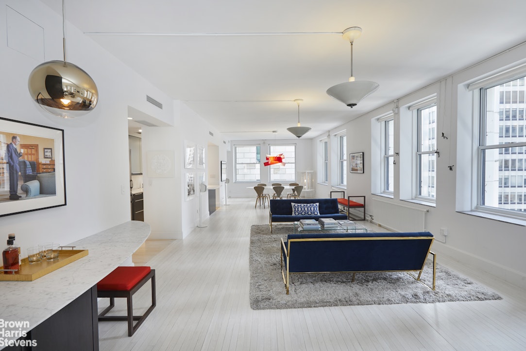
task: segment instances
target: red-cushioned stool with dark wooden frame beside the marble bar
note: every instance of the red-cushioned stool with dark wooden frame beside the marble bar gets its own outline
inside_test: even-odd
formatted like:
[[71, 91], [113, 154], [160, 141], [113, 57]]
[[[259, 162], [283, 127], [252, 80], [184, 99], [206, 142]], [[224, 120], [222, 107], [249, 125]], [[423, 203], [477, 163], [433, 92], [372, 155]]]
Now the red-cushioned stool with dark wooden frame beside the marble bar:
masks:
[[[142, 316], [134, 316], [131, 296], [148, 279], [151, 279], [151, 306]], [[109, 297], [109, 306], [98, 315], [98, 320], [127, 320], [128, 336], [132, 336], [155, 307], [155, 269], [150, 267], [117, 267], [97, 283], [97, 297]], [[115, 306], [116, 297], [126, 297], [128, 302], [127, 316], [105, 316]], [[133, 325], [134, 320], [138, 321], [135, 326]]]

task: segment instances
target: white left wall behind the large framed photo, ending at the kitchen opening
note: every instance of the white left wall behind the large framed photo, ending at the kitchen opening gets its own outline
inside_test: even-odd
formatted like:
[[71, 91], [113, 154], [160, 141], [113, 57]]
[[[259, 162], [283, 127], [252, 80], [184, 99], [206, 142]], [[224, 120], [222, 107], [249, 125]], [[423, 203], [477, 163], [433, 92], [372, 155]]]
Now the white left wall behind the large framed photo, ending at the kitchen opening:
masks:
[[[43, 37], [37, 41], [43, 43], [44, 52], [34, 58], [13, 49], [16, 42], [26, 40], [27, 33], [23, 29], [7, 33], [5, 22], [0, 22], [0, 37], [4, 38], [0, 44], [0, 116], [64, 129], [67, 206], [2, 217], [0, 239], [15, 233], [23, 248], [42, 241], [66, 244], [129, 220], [127, 106], [135, 97], [143, 97], [142, 101], [147, 93], [165, 95], [67, 25], [68, 61], [93, 77], [100, 99], [95, 110], [82, 119], [52, 119], [31, 101], [27, 78], [43, 62], [42, 57], [62, 58], [62, 17], [40, 2], [12, 0], [0, 2], [0, 18], [5, 19], [11, 8], [30, 24], [28, 28], [43, 28]], [[22, 28], [27, 26], [23, 24]], [[171, 114], [168, 109], [157, 115], [168, 121]]]

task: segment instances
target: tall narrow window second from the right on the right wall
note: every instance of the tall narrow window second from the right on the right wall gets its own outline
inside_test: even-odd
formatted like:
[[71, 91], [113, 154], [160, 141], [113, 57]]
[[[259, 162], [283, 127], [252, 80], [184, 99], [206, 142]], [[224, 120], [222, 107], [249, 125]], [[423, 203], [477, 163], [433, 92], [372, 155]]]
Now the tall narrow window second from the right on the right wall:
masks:
[[437, 159], [437, 105], [417, 110], [417, 197], [434, 200]]

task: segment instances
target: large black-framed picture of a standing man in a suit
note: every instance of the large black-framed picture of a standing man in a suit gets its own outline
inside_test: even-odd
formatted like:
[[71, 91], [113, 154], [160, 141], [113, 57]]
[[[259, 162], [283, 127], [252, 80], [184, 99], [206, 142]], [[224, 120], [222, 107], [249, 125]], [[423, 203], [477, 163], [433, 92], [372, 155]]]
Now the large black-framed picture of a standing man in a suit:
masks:
[[[7, 145], [14, 136], [20, 142], [15, 154], [13, 147], [8, 154]], [[0, 217], [66, 206], [63, 129], [0, 117], [0, 144]], [[25, 150], [22, 145], [31, 146]], [[52, 152], [52, 159], [41, 162], [48, 159], [46, 149], [54, 149], [55, 157]], [[18, 166], [16, 194], [12, 194], [10, 184], [13, 165]]]

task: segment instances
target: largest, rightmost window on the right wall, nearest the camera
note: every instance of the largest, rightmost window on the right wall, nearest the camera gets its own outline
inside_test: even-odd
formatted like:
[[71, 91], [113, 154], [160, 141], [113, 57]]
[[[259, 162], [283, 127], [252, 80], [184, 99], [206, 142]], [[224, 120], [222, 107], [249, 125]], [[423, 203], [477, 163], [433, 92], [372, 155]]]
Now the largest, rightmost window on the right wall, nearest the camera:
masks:
[[524, 81], [521, 77], [480, 89], [478, 147], [479, 208], [521, 217], [526, 217]]

